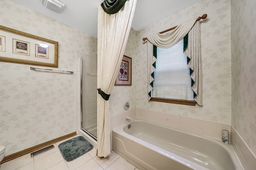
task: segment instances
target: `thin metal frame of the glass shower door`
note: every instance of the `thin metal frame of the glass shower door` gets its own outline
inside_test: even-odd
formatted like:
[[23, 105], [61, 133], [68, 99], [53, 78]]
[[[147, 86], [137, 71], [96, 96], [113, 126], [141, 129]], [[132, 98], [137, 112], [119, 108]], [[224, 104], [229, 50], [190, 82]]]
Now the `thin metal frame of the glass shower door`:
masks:
[[81, 117], [81, 129], [90, 137], [92, 137], [94, 140], [97, 141], [97, 137], [95, 137], [94, 135], [92, 135], [90, 132], [88, 132], [86, 129], [83, 128], [83, 58], [80, 58], [80, 117]]

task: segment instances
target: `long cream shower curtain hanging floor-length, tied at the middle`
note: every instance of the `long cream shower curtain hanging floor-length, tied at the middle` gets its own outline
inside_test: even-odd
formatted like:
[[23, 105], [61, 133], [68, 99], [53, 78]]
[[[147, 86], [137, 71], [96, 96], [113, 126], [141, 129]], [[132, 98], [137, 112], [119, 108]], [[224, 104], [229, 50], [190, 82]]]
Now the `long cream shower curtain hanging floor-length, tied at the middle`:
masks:
[[[116, 14], [98, 7], [97, 88], [110, 94], [126, 48], [137, 0], [127, 0]], [[109, 103], [97, 95], [98, 156], [110, 155]]]

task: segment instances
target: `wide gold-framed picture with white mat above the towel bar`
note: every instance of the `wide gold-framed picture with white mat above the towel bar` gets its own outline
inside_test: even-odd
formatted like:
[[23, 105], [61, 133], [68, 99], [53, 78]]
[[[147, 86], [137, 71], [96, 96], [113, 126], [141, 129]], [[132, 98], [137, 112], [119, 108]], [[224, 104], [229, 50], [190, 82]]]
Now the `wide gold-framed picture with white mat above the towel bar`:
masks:
[[58, 67], [58, 42], [0, 25], [0, 61]]

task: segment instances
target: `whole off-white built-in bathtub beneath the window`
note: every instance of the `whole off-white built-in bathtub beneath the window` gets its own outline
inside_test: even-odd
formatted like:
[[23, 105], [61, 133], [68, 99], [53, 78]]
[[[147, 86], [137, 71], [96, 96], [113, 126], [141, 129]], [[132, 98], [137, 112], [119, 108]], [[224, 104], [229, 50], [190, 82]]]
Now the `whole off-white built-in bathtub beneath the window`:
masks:
[[140, 170], [243, 170], [231, 145], [141, 119], [113, 130], [113, 150]]

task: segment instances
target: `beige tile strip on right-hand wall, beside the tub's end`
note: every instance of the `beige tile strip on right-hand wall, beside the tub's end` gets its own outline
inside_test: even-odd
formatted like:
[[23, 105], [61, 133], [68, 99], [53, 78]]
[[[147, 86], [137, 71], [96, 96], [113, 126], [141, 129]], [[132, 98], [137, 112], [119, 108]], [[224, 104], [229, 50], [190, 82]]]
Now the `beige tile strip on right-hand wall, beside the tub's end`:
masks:
[[244, 170], [255, 170], [256, 156], [232, 126], [230, 142], [242, 166], [244, 167]]

